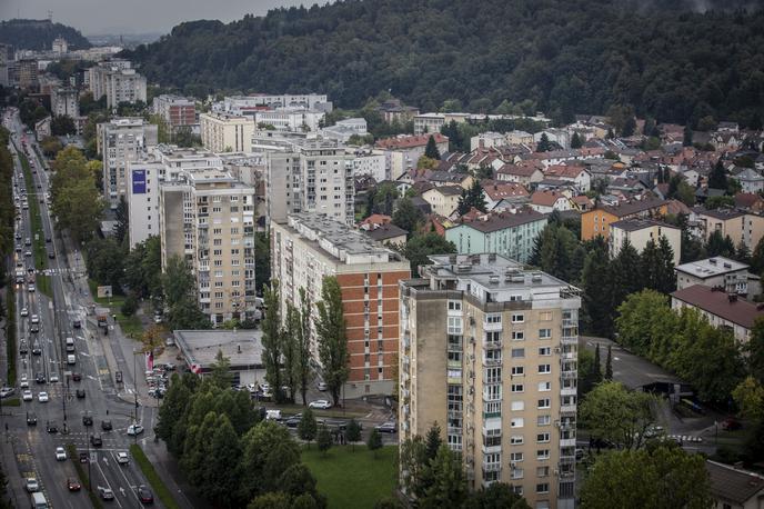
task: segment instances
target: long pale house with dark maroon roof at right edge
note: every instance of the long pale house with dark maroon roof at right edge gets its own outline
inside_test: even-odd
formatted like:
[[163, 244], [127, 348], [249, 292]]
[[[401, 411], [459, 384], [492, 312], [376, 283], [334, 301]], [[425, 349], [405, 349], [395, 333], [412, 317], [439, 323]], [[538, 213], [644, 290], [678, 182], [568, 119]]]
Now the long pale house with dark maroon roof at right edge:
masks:
[[721, 288], [703, 285], [676, 290], [671, 295], [671, 308], [697, 309], [714, 327], [728, 327], [735, 339], [745, 343], [751, 338], [751, 329], [758, 317], [764, 317], [764, 305], [755, 305], [736, 293], [727, 293]]

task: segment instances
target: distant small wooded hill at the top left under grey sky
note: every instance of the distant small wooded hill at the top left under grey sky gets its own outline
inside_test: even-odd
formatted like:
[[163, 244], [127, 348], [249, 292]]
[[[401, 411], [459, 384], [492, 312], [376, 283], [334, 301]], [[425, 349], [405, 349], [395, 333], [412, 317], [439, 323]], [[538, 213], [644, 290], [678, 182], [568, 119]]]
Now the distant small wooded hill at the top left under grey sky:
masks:
[[62, 37], [69, 49], [81, 50], [91, 47], [79, 30], [48, 20], [12, 19], [0, 21], [0, 42], [16, 49], [50, 50], [53, 39]]

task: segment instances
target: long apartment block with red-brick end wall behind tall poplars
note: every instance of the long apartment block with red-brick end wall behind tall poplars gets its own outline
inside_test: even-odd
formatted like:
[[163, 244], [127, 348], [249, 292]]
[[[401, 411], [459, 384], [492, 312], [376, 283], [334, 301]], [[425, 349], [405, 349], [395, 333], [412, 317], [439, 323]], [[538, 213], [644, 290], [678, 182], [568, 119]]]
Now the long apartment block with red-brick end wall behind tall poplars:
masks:
[[[300, 306], [300, 288], [311, 301], [321, 300], [323, 278], [332, 276], [342, 289], [350, 352], [348, 398], [390, 395], [396, 381], [398, 286], [411, 276], [409, 261], [343, 222], [313, 213], [290, 214], [271, 222], [272, 278], [281, 286], [281, 309]], [[318, 340], [311, 351], [320, 365]]]

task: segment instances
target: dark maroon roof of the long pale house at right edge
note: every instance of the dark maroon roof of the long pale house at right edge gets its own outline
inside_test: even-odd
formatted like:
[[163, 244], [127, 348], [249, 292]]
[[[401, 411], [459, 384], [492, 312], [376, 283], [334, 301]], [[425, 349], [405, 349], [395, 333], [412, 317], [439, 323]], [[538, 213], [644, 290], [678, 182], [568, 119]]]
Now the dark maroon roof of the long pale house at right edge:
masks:
[[753, 328], [756, 318], [764, 317], [764, 309], [758, 309], [756, 305], [704, 285], [693, 285], [671, 296], [746, 329]]

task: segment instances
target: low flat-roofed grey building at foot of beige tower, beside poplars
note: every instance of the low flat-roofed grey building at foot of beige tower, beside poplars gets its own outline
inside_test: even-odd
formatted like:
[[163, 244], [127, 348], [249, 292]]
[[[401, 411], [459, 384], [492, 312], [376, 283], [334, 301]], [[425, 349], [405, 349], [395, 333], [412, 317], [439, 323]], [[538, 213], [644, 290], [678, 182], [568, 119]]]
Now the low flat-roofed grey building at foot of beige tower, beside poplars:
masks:
[[220, 351], [230, 362], [231, 385], [247, 386], [265, 380], [262, 330], [175, 330], [172, 335], [191, 372], [210, 373]]

